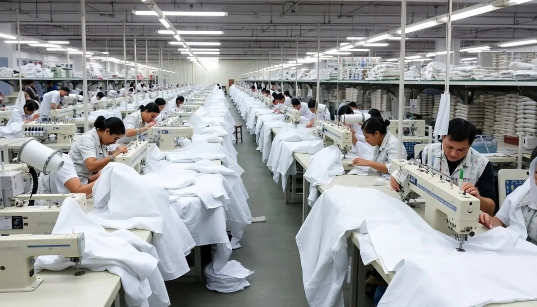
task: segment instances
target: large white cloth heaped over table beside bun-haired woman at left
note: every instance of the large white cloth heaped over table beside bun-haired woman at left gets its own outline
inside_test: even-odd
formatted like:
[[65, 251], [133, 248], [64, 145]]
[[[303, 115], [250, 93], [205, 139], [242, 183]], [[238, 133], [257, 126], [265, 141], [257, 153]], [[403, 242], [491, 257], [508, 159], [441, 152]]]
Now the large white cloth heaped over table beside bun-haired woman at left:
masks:
[[108, 163], [93, 186], [93, 197], [96, 209], [90, 215], [99, 224], [153, 232], [164, 280], [176, 279], [190, 270], [185, 255], [195, 245], [194, 240], [171, 210], [168, 192], [159, 182], [140, 176], [127, 165]]

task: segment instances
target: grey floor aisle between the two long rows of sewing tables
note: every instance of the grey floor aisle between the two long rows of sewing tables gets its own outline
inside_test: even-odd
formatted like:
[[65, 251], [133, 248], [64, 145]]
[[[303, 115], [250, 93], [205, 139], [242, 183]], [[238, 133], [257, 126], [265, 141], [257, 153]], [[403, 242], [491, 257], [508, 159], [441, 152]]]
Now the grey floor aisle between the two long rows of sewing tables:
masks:
[[[229, 98], [228, 98], [229, 99]], [[230, 111], [237, 123], [243, 123], [229, 99]], [[231, 258], [255, 271], [243, 291], [221, 294], [209, 291], [205, 284], [167, 282], [171, 306], [197, 307], [306, 307], [302, 269], [295, 235], [301, 225], [301, 204], [285, 204], [281, 185], [261, 162], [257, 144], [243, 127], [244, 142], [236, 145], [238, 163], [250, 199], [252, 216], [266, 216], [267, 222], [246, 227], [242, 248]]]

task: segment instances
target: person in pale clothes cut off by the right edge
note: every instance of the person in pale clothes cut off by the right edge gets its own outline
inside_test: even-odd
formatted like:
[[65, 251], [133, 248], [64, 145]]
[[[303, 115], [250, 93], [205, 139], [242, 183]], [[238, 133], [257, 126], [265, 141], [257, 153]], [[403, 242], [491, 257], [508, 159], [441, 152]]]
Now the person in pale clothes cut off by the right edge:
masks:
[[[529, 242], [537, 244], [537, 172], [533, 159], [529, 167], [529, 178], [524, 185], [507, 195], [496, 216], [488, 213], [479, 215], [479, 222], [487, 228], [507, 227], [520, 232]], [[528, 182], [529, 181], [529, 182]]]

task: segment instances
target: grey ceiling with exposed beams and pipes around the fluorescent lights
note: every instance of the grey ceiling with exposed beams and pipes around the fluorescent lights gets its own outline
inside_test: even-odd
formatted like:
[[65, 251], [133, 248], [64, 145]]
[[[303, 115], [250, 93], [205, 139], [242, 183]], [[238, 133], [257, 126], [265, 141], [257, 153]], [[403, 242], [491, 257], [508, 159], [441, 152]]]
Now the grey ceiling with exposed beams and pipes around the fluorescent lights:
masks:
[[[296, 41], [299, 56], [317, 50], [317, 25], [321, 27], [321, 49], [337, 46], [347, 36], [370, 36], [393, 30], [401, 25], [401, 3], [398, 1], [277, 1], [252, 0], [155, 0], [162, 11], [204, 10], [227, 11], [225, 17], [167, 17], [177, 30], [222, 30], [223, 35], [182, 35], [187, 41], [219, 41], [220, 59], [294, 59]], [[453, 10], [481, 1], [454, 0]], [[80, 2], [75, 0], [3, 0], [0, 2], [0, 23], [16, 23], [20, 10], [21, 35], [42, 40], [67, 39], [80, 48]], [[149, 61], [158, 59], [163, 47], [164, 59], [179, 57], [179, 46], [171, 46], [171, 35], [156, 33], [164, 27], [155, 16], [135, 16], [132, 10], [148, 10], [139, 0], [86, 1], [87, 49], [111, 55], [123, 54], [123, 25], [126, 21], [127, 54], [133, 60], [133, 36], [138, 39], [137, 59], [145, 60], [146, 39]], [[446, 2], [411, 1], [407, 6], [407, 23], [446, 13]], [[445, 25], [410, 33], [407, 53], [433, 51], [438, 39], [445, 39]], [[462, 46], [482, 45], [537, 36], [537, 5], [526, 3], [467, 18], [453, 23], [453, 38]], [[393, 57], [400, 48], [398, 41], [390, 46], [372, 49], [372, 54]], [[202, 48], [195, 46], [195, 48]], [[215, 48], [215, 47], [211, 47]], [[281, 49], [283, 48], [283, 49]], [[25, 46], [23, 50], [42, 52]], [[364, 55], [357, 53], [357, 55]], [[186, 55], [182, 55], [185, 57]]]

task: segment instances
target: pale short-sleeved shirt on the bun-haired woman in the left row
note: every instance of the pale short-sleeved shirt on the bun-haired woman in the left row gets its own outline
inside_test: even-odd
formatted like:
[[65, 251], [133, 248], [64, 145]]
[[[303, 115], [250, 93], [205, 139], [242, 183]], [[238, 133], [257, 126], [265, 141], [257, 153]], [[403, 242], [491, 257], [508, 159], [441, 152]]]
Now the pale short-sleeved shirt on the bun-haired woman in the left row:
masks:
[[101, 145], [96, 128], [84, 133], [72, 144], [69, 156], [75, 164], [76, 173], [83, 184], [88, 183], [88, 178], [92, 174], [84, 161], [88, 158], [96, 158], [97, 160], [106, 158], [108, 157], [108, 151], [110, 151], [110, 148], [107, 145]]

